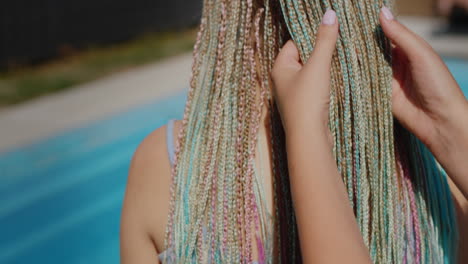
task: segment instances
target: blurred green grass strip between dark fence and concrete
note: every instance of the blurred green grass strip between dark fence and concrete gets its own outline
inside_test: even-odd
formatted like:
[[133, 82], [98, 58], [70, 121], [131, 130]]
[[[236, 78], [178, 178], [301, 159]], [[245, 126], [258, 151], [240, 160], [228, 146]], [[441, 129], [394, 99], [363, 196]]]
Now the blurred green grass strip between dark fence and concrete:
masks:
[[193, 47], [195, 35], [194, 29], [153, 33], [122, 44], [89, 48], [42, 65], [0, 73], [0, 108], [187, 52]]

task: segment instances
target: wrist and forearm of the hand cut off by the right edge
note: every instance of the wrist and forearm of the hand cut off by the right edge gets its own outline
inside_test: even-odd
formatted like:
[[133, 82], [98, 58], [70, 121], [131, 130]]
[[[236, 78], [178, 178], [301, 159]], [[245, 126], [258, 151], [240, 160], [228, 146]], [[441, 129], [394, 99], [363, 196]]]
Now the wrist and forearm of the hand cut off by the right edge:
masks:
[[431, 149], [449, 177], [468, 199], [468, 102], [454, 107], [439, 128], [437, 148]]

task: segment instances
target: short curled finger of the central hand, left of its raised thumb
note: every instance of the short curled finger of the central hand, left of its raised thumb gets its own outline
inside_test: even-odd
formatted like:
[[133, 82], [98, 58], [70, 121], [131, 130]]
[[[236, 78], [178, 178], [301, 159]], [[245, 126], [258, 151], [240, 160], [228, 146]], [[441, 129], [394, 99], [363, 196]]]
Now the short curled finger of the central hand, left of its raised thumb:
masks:
[[288, 40], [278, 53], [271, 71], [271, 77], [277, 86], [291, 81], [301, 70], [299, 51], [292, 40]]

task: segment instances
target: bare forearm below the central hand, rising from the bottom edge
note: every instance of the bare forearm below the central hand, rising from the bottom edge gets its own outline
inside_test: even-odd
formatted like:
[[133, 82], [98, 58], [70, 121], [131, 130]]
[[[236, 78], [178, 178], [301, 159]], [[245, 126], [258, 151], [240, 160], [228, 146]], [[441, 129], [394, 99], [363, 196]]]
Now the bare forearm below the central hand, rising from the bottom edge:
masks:
[[370, 263], [331, 144], [302, 131], [286, 142], [304, 263]]

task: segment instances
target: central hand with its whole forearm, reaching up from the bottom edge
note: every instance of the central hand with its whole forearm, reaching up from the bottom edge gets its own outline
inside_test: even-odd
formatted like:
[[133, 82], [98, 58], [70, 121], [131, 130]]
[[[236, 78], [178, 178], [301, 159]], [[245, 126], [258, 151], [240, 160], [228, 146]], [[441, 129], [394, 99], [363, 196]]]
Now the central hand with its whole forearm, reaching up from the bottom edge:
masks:
[[330, 10], [308, 61], [302, 64], [296, 46], [288, 41], [272, 71], [273, 92], [286, 132], [303, 263], [371, 263], [336, 166], [328, 129], [330, 71], [337, 38], [338, 21]]

